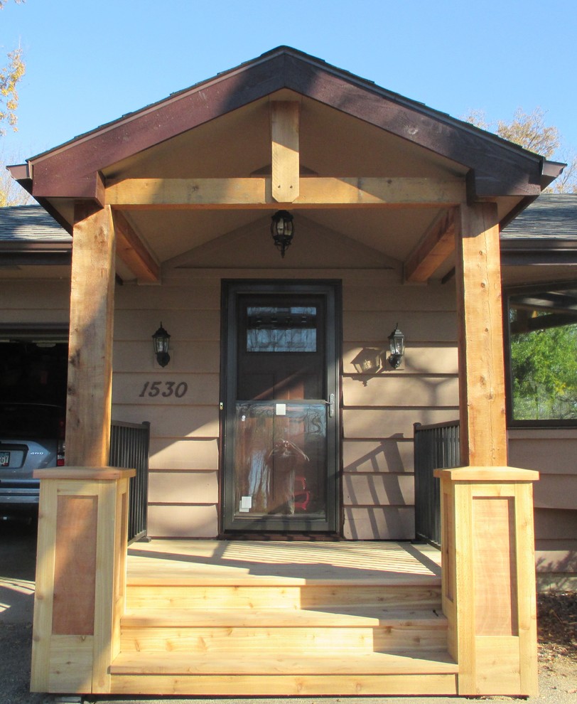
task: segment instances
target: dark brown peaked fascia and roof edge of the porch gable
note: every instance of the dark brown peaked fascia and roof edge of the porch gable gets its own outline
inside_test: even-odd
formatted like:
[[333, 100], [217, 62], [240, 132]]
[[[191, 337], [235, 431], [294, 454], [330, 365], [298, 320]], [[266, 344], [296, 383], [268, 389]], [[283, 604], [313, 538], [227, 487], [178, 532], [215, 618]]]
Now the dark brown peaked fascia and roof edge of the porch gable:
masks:
[[92, 198], [102, 204], [99, 172], [110, 164], [284, 89], [465, 166], [470, 198], [534, 197], [559, 174], [555, 162], [286, 46], [75, 137], [29, 159], [26, 169], [11, 171], [36, 198]]

